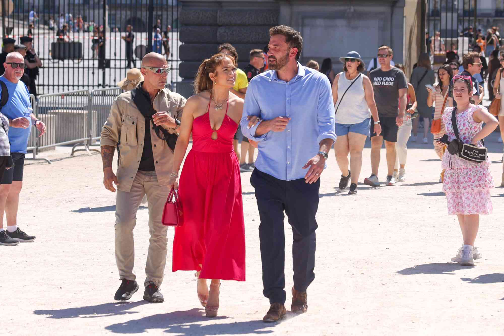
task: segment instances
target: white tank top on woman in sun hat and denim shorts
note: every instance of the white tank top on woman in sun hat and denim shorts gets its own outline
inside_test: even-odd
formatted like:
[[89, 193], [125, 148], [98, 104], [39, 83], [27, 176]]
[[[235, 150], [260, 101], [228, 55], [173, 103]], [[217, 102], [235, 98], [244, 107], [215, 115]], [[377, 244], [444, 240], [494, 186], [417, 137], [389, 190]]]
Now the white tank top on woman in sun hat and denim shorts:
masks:
[[[359, 76], [359, 75], [357, 75]], [[347, 80], [345, 73], [340, 73], [340, 77], [338, 79], [338, 101], [334, 108], [338, 107], [340, 104], [338, 111], [336, 112], [337, 123], [343, 124], [354, 124], [364, 121], [367, 118], [371, 117], [371, 112], [369, 112], [369, 107], [367, 106], [364, 87], [362, 86], [362, 79], [364, 75], [360, 75], [358, 79]], [[352, 81], [352, 87], [348, 89], [343, 100], [341, 99], [346, 89], [350, 86]]]

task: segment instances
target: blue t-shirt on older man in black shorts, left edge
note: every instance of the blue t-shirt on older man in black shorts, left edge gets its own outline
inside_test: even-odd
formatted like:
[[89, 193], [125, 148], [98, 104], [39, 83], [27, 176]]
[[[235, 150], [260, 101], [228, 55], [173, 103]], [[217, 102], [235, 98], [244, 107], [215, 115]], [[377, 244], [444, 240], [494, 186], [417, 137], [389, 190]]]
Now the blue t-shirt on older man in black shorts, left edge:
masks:
[[[30, 92], [26, 87], [26, 84], [19, 81], [17, 84], [12, 83], [4, 76], [0, 77], [0, 81], [3, 81], [7, 85], [7, 90], [9, 91], [9, 101], [2, 107], [2, 113], [5, 114], [9, 119], [16, 119], [22, 117], [24, 112], [27, 112], [28, 107], [31, 107]], [[0, 87], [0, 97], [2, 94], [2, 87]], [[11, 143], [11, 153], [25, 153], [28, 147], [28, 138], [30, 137], [31, 131], [31, 118], [30, 127], [28, 128], [9, 128], [9, 141]]]

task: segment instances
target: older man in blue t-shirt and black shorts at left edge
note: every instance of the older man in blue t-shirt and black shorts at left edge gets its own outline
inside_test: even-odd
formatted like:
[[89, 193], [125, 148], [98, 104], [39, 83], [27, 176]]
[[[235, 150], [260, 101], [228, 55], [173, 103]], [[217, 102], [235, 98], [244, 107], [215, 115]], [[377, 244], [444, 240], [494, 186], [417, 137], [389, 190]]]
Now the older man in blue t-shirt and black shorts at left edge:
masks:
[[[6, 170], [0, 182], [0, 244], [9, 237], [19, 242], [35, 239], [35, 236], [29, 236], [17, 227], [19, 193], [23, 186], [23, 166], [32, 124], [40, 131], [40, 136], [45, 132], [44, 123], [31, 113], [30, 93], [20, 81], [25, 66], [23, 56], [19, 52], [11, 52], [4, 63], [5, 73], [0, 77], [9, 91], [9, 101], [2, 108], [2, 113], [9, 119], [9, 142], [14, 161], [14, 168]], [[7, 216], [7, 232], [3, 227], [4, 212]]]

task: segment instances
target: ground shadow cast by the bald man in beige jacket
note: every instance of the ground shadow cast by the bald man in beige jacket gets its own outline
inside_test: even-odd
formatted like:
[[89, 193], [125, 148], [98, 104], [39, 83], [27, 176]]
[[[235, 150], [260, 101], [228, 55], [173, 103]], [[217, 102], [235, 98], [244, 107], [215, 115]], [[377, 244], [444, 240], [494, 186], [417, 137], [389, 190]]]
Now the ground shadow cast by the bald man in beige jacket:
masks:
[[138, 311], [130, 309], [148, 304], [149, 302], [142, 300], [137, 302], [110, 302], [96, 306], [73, 307], [65, 309], [52, 310], [34, 310], [35, 315], [49, 315], [47, 318], [76, 318], [76, 317], [104, 317], [124, 314], [134, 314]]

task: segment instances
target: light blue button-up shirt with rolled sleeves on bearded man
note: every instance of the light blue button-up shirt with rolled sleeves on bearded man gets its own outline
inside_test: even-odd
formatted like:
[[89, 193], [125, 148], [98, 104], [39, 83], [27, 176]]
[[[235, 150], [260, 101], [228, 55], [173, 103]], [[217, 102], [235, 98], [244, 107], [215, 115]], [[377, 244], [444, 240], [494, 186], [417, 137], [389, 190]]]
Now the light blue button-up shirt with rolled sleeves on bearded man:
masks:
[[[254, 77], [248, 83], [240, 121], [243, 135], [259, 142], [256, 168], [285, 181], [304, 178], [307, 169], [302, 167], [317, 155], [322, 140], [336, 141], [329, 79], [299, 62], [297, 65], [297, 75], [290, 82], [279, 79], [276, 71]], [[281, 132], [269, 131], [256, 137], [260, 123], [247, 129], [249, 115], [264, 120], [278, 116], [291, 120]]]

